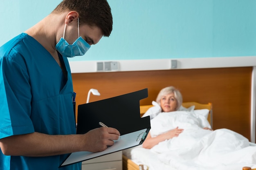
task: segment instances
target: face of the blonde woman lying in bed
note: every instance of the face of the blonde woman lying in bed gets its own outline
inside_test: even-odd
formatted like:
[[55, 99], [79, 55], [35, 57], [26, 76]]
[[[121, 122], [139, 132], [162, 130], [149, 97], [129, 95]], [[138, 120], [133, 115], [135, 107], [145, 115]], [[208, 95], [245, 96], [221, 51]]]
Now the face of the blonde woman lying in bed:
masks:
[[163, 112], [175, 111], [177, 107], [177, 100], [174, 97], [174, 93], [163, 95], [160, 100], [160, 106]]

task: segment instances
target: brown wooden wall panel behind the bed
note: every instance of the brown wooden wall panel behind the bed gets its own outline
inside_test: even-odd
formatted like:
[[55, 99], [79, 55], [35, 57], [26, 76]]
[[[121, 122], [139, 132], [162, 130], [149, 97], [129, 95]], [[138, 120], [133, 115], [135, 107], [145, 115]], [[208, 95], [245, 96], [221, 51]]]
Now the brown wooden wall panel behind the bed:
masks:
[[213, 105], [213, 129], [228, 128], [250, 139], [250, 97], [252, 67], [171, 69], [72, 74], [76, 105], [148, 88], [148, 97], [140, 105], [150, 105], [166, 86], [180, 90], [183, 102]]

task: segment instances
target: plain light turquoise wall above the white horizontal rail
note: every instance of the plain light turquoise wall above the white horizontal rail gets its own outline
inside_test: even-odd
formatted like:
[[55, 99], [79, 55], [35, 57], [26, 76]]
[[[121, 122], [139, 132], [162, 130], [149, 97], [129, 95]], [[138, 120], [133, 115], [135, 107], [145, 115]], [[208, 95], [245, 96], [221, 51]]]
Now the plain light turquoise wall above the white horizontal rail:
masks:
[[[0, 2], [0, 45], [61, 0]], [[256, 55], [256, 0], [108, 0], [113, 31], [74, 60]]]

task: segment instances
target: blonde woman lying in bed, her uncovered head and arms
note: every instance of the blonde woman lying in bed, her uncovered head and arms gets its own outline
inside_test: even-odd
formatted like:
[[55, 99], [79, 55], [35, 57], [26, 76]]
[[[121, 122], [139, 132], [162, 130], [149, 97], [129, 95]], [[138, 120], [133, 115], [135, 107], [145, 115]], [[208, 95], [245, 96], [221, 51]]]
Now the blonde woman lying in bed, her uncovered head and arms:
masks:
[[[150, 115], [150, 119], [153, 119], [160, 112], [173, 112], [179, 110], [182, 105], [182, 94], [179, 90], [177, 90], [173, 86], [168, 86], [163, 88], [159, 94], [157, 95], [156, 103], [160, 107], [154, 108], [154, 110], [148, 110], [143, 117]], [[154, 105], [157, 105], [154, 104]], [[205, 127], [204, 129], [209, 129]], [[177, 137], [180, 133], [183, 132], [184, 129], [176, 127], [175, 129], [169, 130], [168, 132], [157, 135], [156, 137], [151, 137], [150, 132], [148, 133], [147, 138], [143, 143], [144, 148], [152, 148], [157, 145], [159, 142], [164, 141], [166, 139], [171, 139], [173, 137]]]

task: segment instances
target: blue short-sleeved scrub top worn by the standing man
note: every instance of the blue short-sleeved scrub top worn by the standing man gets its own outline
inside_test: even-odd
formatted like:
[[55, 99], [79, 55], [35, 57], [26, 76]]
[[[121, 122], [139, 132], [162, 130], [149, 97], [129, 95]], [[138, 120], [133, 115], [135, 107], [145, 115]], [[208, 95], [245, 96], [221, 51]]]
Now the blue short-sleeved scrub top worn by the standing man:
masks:
[[[52, 55], [26, 33], [0, 47], [0, 139], [32, 132], [76, 133], [71, 71], [66, 57], [63, 62], [67, 77]], [[5, 156], [0, 150], [0, 170], [81, 169], [81, 163], [58, 168], [66, 157]]]

